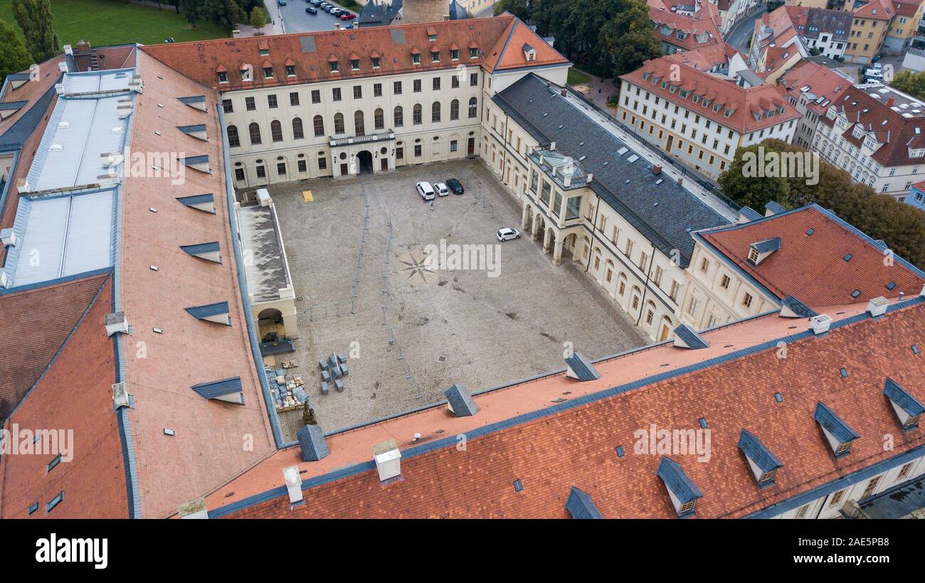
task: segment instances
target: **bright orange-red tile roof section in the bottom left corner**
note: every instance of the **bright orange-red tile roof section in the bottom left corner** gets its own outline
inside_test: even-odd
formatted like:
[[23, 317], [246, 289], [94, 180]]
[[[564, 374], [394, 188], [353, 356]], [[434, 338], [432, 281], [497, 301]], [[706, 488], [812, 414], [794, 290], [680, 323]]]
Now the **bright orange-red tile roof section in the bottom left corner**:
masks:
[[61, 347], [55, 363], [4, 426], [7, 431], [72, 430], [68, 441], [73, 458], [65, 457], [46, 471], [55, 452], [4, 454], [0, 459], [0, 518], [29, 516], [31, 504], [38, 504], [38, 510], [30, 518], [46, 517], [45, 504], [58, 492], [65, 492], [64, 501], [49, 518], [129, 516], [122, 445], [113, 412], [113, 339], [106, 337], [103, 324], [111, 311], [113, 281], [105, 277], [102, 287], [99, 278], [93, 282], [93, 292], [99, 290], [99, 296]]

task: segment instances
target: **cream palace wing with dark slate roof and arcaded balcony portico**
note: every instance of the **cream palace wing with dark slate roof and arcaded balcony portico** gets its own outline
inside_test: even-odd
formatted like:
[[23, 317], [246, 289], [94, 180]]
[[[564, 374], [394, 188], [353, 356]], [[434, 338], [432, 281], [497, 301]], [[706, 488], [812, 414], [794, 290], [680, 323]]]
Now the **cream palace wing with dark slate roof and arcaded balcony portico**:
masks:
[[690, 232], [733, 223], [737, 213], [679, 184], [680, 173], [631, 134], [592, 119], [562, 91], [536, 75], [499, 91], [485, 110], [482, 155], [553, 261], [567, 253], [643, 332], [665, 340], [677, 324]]

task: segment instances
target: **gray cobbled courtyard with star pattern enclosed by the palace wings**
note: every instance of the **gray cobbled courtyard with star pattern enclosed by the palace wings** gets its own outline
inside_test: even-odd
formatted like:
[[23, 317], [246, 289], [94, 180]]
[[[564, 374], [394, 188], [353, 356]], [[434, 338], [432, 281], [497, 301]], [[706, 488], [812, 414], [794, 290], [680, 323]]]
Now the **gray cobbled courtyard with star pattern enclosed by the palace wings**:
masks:
[[[428, 204], [418, 181], [462, 181]], [[268, 188], [296, 294], [294, 359], [325, 431], [422, 407], [452, 383], [472, 392], [561, 369], [570, 346], [588, 358], [647, 341], [583, 265], [555, 267], [520, 228], [518, 204], [478, 161], [402, 168]], [[310, 189], [313, 200], [302, 191]], [[487, 263], [430, 264], [428, 245], [484, 246]], [[497, 246], [497, 247], [496, 247]], [[490, 254], [489, 254], [490, 253]], [[347, 356], [345, 389], [320, 394], [318, 360]], [[288, 439], [301, 411], [282, 416]]]

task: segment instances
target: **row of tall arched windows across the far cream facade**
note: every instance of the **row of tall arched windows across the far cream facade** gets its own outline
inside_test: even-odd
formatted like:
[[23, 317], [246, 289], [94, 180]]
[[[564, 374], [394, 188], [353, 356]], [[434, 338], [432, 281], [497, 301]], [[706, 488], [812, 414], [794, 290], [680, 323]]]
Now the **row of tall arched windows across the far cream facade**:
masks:
[[[439, 123], [442, 115], [441, 110], [442, 105], [440, 102], [434, 102], [431, 104], [431, 123]], [[468, 115], [470, 118], [475, 118], [478, 116], [478, 100], [475, 97], [469, 100]], [[450, 102], [450, 121], [455, 121], [459, 119], [459, 117], [460, 102], [458, 99], [454, 99]], [[415, 126], [419, 126], [424, 123], [424, 110], [420, 103], [416, 103], [412, 108], [412, 123]], [[392, 111], [392, 127], [402, 128], [403, 126], [404, 108], [402, 108], [401, 105], [396, 105], [395, 109]], [[381, 107], [377, 107], [376, 111], [373, 113], [373, 127], [376, 130], [386, 128], [386, 114]], [[316, 138], [326, 135], [324, 117], [321, 115], [315, 115], [312, 118], [312, 129]], [[263, 143], [263, 137], [261, 136], [260, 132], [260, 125], [257, 122], [252, 122], [250, 125], [248, 125], [247, 131], [252, 146]], [[334, 115], [334, 135], [337, 136], [344, 133], [346, 133], [344, 115], [337, 113]], [[361, 110], [357, 110], [353, 113], [353, 134], [355, 136], [364, 136], [366, 134], [364, 113]], [[294, 117], [292, 119], [292, 139], [302, 140], [304, 137], [305, 132], [304, 128], [302, 128], [302, 118]], [[283, 127], [277, 119], [274, 119], [270, 122], [270, 140], [283, 140]], [[240, 133], [237, 126], [228, 126], [228, 145], [231, 147], [240, 146]]]

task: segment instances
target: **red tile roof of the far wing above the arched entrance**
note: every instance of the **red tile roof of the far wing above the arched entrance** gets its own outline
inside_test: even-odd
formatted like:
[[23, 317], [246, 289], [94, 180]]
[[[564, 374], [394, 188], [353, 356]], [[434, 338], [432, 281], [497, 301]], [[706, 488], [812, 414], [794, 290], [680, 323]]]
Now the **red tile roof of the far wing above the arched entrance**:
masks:
[[[435, 44], [428, 40], [427, 29], [430, 28], [437, 32], [436, 46], [440, 48], [440, 61], [433, 63], [430, 55], [422, 55], [421, 63], [414, 65], [411, 56], [413, 49], [419, 50], [420, 47]], [[260, 54], [260, 43], [265, 43], [269, 55]], [[462, 50], [459, 60], [451, 60], [450, 46], [454, 43], [457, 46], [478, 48], [478, 57], [470, 59], [469, 52]], [[535, 61], [526, 61], [522, 50], [524, 43], [529, 43], [536, 49]], [[549, 46], [549, 43], [544, 42], [523, 22], [508, 13], [495, 18], [448, 20], [428, 24], [155, 44], [143, 46], [141, 51], [154, 56], [190, 79], [222, 91], [452, 69], [459, 64], [479, 65], [493, 72], [516, 67], [568, 63], [568, 60]], [[353, 71], [348, 66], [351, 53], [360, 57], [358, 71]], [[381, 54], [381, 66], [375, 69], [370, 62], [374, 53]], [[329, 70], [328, 57], [331, 55], [341, 64], [337, 73]], [[288, 78], [285, 73], [284, 63], [287, 59], [295, 62], [293, 78]], [[263, 79], [262, 71], [255, 70], [252, 81], [241, 81], [241, 67], [256, 67], [264, 61], [268, 61], [274, 67], [273, 79]], [[228, 83], [218, 83], [218, 67], [228, 69]]]

